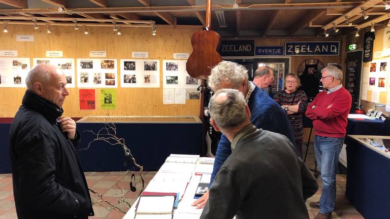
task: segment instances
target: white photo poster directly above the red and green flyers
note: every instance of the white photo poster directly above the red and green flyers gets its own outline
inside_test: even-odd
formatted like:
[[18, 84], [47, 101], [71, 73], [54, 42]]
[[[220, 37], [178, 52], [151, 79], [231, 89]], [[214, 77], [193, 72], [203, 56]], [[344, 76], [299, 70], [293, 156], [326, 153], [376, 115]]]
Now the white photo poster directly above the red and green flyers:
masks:
[[117, 88], [116, 59], [77, 59], [77, 87]]

